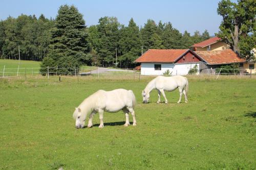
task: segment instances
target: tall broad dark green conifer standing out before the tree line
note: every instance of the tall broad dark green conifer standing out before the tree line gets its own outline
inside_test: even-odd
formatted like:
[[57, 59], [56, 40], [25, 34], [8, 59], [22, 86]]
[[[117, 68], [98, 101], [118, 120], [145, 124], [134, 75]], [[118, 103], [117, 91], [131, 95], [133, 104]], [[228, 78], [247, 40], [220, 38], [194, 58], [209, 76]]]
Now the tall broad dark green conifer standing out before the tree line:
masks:
[[[52, 42], [49, 45], [47, 60], [51, 61], [50, 67], [58, 66], [60, 72], [71, 73], [74, 68], [79, 68], [87, 59], [90, 52], [88, 43], [88, 30], [85, 21], [73, 5], [60, 6], [56, 17], [55, 28], [51, 30]], [[54, 62], [52, 62], [52, 60]]]

